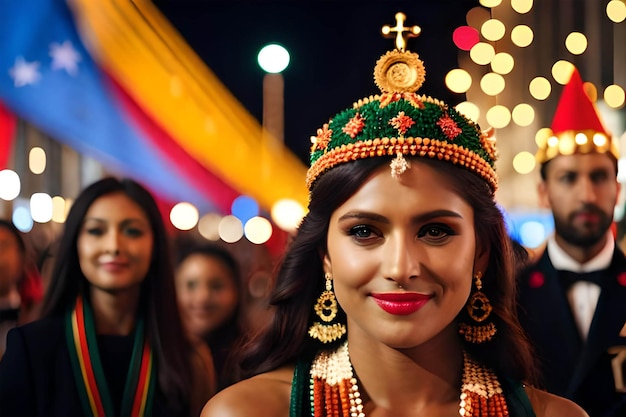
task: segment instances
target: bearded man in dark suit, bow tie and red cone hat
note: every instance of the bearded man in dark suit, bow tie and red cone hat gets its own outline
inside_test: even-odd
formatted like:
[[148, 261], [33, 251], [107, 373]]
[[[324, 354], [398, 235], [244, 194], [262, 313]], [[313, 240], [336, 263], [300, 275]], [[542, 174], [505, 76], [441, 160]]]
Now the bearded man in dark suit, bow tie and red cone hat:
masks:
[[552, 211], [555, 232], [518, 277], [519, 318], [544, 388], [591, 417], [626, 416], [626, 258], [611, 232], [617, 139], [603, 128], [577, 70], [552, 134], [537, 160], [539, 201]]

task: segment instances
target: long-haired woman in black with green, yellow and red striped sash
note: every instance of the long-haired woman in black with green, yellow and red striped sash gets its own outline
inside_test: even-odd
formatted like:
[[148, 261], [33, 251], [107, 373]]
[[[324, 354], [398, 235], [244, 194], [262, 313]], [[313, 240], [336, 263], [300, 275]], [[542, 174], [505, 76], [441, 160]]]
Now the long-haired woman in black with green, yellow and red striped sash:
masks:
[[161, 214], [105, 178], [67, 216], [42, 319], [9, 332], [2, 416], [188, 416], [213, 394], [182, 327]]

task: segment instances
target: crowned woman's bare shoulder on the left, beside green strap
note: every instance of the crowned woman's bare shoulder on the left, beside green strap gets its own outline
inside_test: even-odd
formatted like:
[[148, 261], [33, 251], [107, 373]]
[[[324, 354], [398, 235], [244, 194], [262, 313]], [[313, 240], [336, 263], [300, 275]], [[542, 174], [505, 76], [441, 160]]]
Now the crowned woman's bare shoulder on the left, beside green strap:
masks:
[[287, 417], [293, 367], [259, 374], [220, 391], [206, 403], [201, 417]]

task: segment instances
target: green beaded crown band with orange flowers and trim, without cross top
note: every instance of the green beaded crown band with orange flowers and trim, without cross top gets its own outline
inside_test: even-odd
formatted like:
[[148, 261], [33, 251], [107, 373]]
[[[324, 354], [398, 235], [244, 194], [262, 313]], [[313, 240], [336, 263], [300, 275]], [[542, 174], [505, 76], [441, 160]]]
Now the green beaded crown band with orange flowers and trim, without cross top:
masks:
[[[376, 147], [372, 148], [375, 140]], [[359, 100], [318, 129], [311, 141], [309, 186], [339, 163], [396, 152], [448, 160], [482, 176], [494, 191], [497, 186], [494, 141], [456, 109], [415, 93], [385, 93]], [[418, 145], [409, 148], [409, 143]]]

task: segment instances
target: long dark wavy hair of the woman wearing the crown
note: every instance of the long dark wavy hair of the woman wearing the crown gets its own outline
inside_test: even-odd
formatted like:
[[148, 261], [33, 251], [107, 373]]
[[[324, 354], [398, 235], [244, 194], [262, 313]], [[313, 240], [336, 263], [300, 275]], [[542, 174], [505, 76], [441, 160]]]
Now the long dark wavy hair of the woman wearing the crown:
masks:
[[[483, 292], [491, 300], [491, 318], [498, 331], [492, 341], [483, 344], [467, 343], [459, 336], [465, 349], [497, 373], [534, 382], [536, 371], [532, 349], [516, 316], [516, 254], [502, 212], [487, 183], [477, 175], [448, 162], [426, 158], [420, 158], [420, 161], [442, 173], [456, 193], [472, 206], [477, 239], [490, 249]], [[388, 158], [361, 159], [339, 165], [315, 182], [309, 212], [278, 268], [270, 300], [274, 308], [273, 320], [244, 346], [241, 377], [266, 372], [298, 359], [310, 359], [322, 348], [322, 344], [311, 339], [307, 331], [314, 320], [313, 305], [324, 290], [321, 254], [325, 252], [331, 214], [376, 169], [388, 164]], [[345, 322], [341, 308], [340, 314], [340, 320]], [[466, 309], [457, 319], [469, 320]]]

